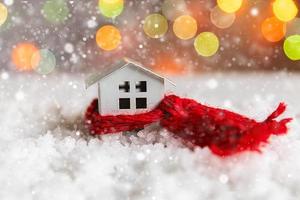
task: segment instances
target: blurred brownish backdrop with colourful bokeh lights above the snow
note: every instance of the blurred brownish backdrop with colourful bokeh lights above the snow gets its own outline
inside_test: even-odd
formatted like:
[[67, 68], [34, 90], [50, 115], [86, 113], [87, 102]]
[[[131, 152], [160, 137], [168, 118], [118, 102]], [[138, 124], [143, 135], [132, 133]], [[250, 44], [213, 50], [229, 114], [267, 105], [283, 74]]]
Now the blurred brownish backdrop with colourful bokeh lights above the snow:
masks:
[[[165, 74], [300, 69], [298, 1], [0, 3], [0, 67], [5, 72], [86, 73], [124, 56]], [[180, 21], [186, 15], [191, 18]], [[114, 29], [108, 35], [102, 29], [101, 34], [106, 25]], [[211, 35], [201, 38], [202, 32]]]

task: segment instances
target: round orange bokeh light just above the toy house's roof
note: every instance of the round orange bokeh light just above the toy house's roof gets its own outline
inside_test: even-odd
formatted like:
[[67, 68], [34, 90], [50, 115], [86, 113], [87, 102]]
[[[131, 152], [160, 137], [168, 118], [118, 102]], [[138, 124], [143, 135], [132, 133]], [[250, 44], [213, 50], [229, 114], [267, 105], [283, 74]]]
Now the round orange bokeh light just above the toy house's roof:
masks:
[[121, 39], [119, 29], [112, 25], [101, 27], [96, 34], [97, 45], [105, 51], [116, 49], [121, 44]]

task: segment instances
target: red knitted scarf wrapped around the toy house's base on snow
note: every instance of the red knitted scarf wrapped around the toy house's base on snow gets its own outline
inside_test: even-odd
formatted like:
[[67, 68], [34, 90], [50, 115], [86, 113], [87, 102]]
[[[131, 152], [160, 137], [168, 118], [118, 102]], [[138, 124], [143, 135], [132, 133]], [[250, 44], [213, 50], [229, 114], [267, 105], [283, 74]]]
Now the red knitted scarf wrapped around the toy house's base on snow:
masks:
[[175, 95], [166, 96], [154, 110], [137, 115], [101, 116], [97, 102], [94, 100], [85, 114], [91, 134], [140, 130], [159, 121], [175, 137], [192, 144], [193, 147], [209, 147], [220, 156], [247, 150], [259, 151], [261, 144], [267, 143], [272, 134], [286, 134], [287, 123], [292, 120], [275, 120], [286, 109], [283, 103], [265, 121], [257, 122]]

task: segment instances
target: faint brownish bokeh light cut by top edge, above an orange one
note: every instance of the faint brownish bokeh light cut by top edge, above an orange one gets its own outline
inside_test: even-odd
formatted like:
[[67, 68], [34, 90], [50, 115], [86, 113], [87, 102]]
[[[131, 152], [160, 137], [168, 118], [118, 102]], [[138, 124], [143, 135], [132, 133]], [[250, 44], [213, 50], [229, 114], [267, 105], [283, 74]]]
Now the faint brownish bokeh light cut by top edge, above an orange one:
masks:
[[163, 15], [171, 21], [174, 21], [181, 15], [187, 14], [185, 0], [165, 0], [161, 9]]

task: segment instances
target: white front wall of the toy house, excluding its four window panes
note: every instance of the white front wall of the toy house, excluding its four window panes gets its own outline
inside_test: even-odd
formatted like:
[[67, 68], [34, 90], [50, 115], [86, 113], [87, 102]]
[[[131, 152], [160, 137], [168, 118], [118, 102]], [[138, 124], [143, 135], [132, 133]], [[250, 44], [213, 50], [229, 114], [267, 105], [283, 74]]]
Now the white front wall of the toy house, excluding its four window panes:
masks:
[[[119, 85], [124, 81], [130, 82], [130, 92], [119, 90]], [[135, 83], [147, 81], [147, 92], [136, 92]], [[100, 91], [100, 114], [119, 115], [137, 114], [152, 110], [164, 97], [164, 80], [142, 69], [128, 64], [126, 67], [116, 70], [99, 82]], [[136, 109], [135, 99], [137, 97], [147, 98], [148, 109]], [[119, 98], [130, 98], [131, 109], [119, 110]]]

